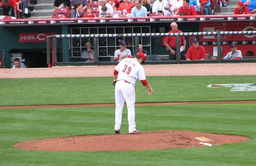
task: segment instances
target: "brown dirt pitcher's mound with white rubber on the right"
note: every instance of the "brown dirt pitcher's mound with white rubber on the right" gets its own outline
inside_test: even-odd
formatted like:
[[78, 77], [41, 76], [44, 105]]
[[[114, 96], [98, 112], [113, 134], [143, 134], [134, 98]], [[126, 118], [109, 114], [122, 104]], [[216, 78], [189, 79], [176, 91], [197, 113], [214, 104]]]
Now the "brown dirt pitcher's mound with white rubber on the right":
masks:
[[212, 146], [250, 140], [250, 138], [242, 136], [168, 130], [143, 132], [142, 134], [121, 133], [119, 135], [40, 139], [17, 143], [14, 147], [38, 151], [89, 152], [137, 151], [205, 146], [204, 144], [199, 144], [202, 140], [198, 140], [196, 137], [208, 138], [211, 141], [204, 142], [210, 143]]

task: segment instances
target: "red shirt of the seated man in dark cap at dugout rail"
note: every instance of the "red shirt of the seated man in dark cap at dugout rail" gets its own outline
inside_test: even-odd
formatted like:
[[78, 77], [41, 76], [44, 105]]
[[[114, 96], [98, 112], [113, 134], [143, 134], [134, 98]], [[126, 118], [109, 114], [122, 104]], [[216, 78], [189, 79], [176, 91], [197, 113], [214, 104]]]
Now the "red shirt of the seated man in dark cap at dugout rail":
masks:
[[190, 60], [201, 60], [202, 58], [206, 59], [206, 53], [203, 46], [199, 45], [198, 48], [191, 46], [187, 50], [186, 59]]

